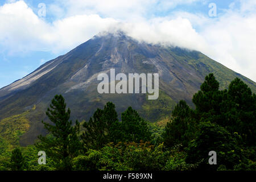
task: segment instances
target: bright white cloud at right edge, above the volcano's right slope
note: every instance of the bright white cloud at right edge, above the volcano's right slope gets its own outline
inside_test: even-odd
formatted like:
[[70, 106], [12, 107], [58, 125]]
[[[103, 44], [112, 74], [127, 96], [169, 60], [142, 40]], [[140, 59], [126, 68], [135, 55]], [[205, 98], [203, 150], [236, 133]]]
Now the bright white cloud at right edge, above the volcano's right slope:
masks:
[[201, 33], [210, 46], [205, 53], [255, 81], [255, 32], [256, 15], [225, 15], [218, 22], [205, 27]]

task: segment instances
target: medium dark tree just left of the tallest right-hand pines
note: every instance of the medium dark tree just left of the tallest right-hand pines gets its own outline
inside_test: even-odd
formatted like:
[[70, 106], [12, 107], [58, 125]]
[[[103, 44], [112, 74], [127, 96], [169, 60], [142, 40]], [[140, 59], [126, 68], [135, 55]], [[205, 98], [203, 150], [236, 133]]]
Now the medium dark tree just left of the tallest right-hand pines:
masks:
[[172, 111], [172, 119], [167, 122], [163, 133], [164, 145], [173, 147], [176, 144], [187, 146], [195, 134], [195, 122], [191, 117], [192, 110], [185, 101], [180, 101]]

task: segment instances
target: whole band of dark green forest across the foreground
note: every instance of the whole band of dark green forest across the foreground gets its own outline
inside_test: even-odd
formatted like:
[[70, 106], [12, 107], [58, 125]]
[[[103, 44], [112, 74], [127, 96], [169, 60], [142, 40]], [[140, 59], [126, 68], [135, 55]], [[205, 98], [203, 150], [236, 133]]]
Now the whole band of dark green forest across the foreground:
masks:
[[[48, 131], [34, 145], [0, 155], [0, 171], [255, 171], [256, 95], [240, 78], [220, 90], [210, 73], [191, 108], [181, 100], [163, 127], [128, 107], [121, 121], [112, 102], [89, 121], [71, 121], [64, 97], [46, 111]], [[0, 146], [1, 147], [1, 146]], [[39, 151], [46, 164], [39, 164]], [[209, 164], [215, 151], [216, 164]]]

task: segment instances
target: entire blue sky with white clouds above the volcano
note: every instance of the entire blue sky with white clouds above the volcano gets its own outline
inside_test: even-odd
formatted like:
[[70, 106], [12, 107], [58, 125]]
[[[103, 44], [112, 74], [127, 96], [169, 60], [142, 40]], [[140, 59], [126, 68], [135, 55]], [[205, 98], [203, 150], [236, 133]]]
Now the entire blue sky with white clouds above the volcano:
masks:
[[256, 82], [255, 0], [0, 0], [0, 88], [117, 30], [200, 51]]

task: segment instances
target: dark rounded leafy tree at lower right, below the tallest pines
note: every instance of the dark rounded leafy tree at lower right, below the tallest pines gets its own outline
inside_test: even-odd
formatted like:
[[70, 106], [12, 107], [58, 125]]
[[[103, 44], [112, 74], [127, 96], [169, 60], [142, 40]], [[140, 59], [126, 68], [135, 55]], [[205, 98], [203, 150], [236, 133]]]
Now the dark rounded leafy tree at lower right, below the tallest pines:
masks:
[[[208, 162], [210, 151], [216, 151], [216, 165]], [[198, 169], [216, 171], [220, 165], [233, 169], [241, 160], [241, 148], [237, 146], [236, 136], [210, 122], [200, 123], [196, 139], [187, 148], [186, 162], [198, 164]]]

